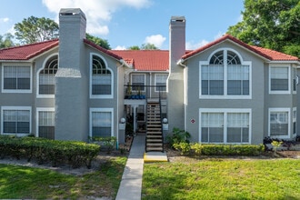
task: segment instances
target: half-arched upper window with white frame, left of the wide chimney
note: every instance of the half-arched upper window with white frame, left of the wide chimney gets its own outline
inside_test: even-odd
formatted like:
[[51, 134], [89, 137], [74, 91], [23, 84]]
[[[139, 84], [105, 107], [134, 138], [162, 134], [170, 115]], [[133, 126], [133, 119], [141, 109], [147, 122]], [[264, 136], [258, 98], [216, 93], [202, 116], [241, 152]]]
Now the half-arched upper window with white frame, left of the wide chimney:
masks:
[[37, 72], [37, 96], [55, 96], [55, 74], [58, 70], [58, 55], [51, 55], [45, 60], [44, 68]]

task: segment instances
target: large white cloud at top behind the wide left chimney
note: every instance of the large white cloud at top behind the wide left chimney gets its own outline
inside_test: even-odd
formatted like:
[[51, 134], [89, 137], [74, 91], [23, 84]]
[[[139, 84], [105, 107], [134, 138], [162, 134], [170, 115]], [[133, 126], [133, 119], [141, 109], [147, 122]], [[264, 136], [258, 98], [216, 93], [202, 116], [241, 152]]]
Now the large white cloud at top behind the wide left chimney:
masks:
[[43, 0], [43, 4], [56, 14], [56, 21], [61, 8], [79, 7], [87, 18], [87, 33], [107, 35], [107, 24], [117, 10], [126, 6], [145, 8], [151, 5], [151, 0]]

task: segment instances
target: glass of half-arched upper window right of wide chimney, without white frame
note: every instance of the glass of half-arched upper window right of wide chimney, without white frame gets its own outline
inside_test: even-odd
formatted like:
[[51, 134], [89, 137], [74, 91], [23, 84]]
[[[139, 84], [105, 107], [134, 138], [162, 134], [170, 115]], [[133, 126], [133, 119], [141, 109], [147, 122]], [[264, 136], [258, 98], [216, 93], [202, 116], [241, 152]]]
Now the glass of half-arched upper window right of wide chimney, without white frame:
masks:
[[112, 95], [112, 73], [104, 60], [93, 55], [92, 95]]

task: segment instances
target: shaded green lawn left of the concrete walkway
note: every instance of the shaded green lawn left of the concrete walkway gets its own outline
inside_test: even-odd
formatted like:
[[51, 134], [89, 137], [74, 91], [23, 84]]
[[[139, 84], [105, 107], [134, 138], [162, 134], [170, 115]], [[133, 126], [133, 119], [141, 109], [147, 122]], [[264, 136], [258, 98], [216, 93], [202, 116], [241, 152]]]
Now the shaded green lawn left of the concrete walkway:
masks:
[[0, 165], [0, 199], [78, 199], [86, 196], [115, 198], [126, 157], [112, 157], [99, 170], [65, 175], [51, 170]]

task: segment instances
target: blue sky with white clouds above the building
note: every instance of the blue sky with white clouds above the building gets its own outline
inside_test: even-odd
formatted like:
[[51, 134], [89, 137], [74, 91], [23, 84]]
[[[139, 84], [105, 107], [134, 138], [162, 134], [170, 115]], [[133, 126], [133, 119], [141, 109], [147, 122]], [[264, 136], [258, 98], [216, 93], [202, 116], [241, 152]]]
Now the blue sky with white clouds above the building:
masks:
[[169, 20], [185, 15], [186, 49], [195, 49], [225, 34], [241, 21], [243, 0], [1, 0], [0, 35], [31, 15], [58, 22], [63, 7], [79, 7], [87, 33], [107, 39], [113, 49], [152, 43], [168, 49]]

